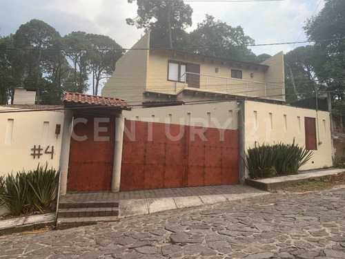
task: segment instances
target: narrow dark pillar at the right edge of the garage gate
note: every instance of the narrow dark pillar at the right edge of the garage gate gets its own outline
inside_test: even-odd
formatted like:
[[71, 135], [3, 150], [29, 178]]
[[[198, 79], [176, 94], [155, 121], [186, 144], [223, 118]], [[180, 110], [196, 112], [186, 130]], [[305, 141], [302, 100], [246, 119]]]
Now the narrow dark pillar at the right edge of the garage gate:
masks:
[[246, 153], [246, 145], [244, 142], [245, 136], [245, 101], [239, 100], [237, 101], [237, 108], [238, 108], [238, 167], [239, 167], [239, 183], [245, 184], [246, 183], [246, 164], [244, 164], [243, 158], [245, 157]]

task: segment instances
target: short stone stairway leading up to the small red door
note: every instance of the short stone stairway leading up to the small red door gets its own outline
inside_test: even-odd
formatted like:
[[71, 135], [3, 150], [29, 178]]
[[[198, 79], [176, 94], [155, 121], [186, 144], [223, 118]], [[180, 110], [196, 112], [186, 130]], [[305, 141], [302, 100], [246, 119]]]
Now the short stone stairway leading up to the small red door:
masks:
[[[73, 195], [61, 196], [57, 212], [57, 229], [68, 229], [88, 224], [117, 221], [118, 200], [101, 200], [99, 195], [88, 199], [73, 199]], [[87, 196], [86, 196], [87, 197]]]

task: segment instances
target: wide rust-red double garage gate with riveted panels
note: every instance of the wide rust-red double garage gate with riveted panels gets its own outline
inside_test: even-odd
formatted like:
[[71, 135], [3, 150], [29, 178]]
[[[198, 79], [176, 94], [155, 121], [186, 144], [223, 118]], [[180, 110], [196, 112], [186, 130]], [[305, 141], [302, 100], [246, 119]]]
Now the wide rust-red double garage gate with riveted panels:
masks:
[[239, 183], [238, 131], [224, 130], [221, 141], [207, 128], [204, 141], [193, 140], [193, 126], [127, 120], [126, 127], [121, 191]]

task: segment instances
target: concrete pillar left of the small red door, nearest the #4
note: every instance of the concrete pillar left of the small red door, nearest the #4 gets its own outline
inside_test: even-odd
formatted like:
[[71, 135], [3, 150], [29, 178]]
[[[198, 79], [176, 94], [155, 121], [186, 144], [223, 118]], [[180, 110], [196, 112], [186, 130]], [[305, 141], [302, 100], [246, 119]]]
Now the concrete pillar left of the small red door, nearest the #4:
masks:
[[67, 174], [68, 164], [70, 160], [70, 126], [72, 124], [73, 111], [65, 110], [65, 117], [63, 117], [63, 130], [61, 140], [61, 155], [60, 155], [60, 195], [65, 195], [67, 191]]

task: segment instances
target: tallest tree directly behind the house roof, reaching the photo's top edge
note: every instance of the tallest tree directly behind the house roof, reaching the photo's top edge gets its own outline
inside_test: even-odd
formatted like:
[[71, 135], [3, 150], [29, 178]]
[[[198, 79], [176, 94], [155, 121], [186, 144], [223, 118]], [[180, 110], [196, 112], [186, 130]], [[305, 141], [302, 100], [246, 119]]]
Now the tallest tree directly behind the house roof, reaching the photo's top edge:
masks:
[[126, 21], [150, 30], [151, 46], [172, 48], [183, 34], [181, 31], [192, 25], [193, 9], [183, 0], [137, 0], [137, 6], [137, 17]]

